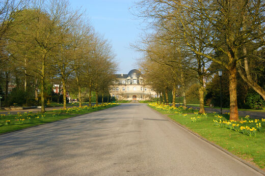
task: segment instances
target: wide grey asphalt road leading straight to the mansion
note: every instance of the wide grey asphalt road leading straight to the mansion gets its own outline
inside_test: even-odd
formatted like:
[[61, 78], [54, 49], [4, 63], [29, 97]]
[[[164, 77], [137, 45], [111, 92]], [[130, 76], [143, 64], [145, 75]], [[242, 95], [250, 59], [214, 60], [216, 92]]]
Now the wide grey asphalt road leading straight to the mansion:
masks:
[[1, 175], [259, 175], [154, 112], [122, 104], [0, 135]]

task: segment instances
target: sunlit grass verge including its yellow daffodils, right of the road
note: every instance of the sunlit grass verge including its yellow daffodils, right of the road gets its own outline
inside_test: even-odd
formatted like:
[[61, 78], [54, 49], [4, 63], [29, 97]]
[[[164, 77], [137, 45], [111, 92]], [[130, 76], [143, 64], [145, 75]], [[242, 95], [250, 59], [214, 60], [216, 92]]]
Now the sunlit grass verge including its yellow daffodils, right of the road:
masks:
[[[232, 122], [228, 120], [228, 114], [222, 116], [216, 113], [199, 114], [194, 109], [184, 110], [182, 107], [171, 108], [170, 106], [150, 104], [149, 106], [158, 112], [171, 114], [168, 116], [172, 120], [222, 146], [232, 154], [252, 162], [262, 169], [265, 168], [265, 120], [256, 120], [255, 122], [248, 117], [241, 117], [241, 122]], [[259, 128], [257, 124], [258, 126], [260, 124]], [[250, 127], [250, 129], [244, 129], [246, 127]], [[253, 128], [255, 130], [251, 131]]]

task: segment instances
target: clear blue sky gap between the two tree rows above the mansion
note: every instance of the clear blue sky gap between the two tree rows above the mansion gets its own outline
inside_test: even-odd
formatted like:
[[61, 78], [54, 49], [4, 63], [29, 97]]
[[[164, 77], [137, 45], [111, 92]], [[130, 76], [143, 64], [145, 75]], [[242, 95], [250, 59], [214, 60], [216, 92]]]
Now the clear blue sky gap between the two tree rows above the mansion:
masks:
[[113, 46], [119, 69], [118, 74], [127, 74], [137, 68], [136, 59], [140, 54], [130, 47], [141, 33], [140, 21], [135, 19], [128, 8], [131, 0], [69, 0], [72, 7], [86, 10], [88, 20], [95, 30], [104, 35]]

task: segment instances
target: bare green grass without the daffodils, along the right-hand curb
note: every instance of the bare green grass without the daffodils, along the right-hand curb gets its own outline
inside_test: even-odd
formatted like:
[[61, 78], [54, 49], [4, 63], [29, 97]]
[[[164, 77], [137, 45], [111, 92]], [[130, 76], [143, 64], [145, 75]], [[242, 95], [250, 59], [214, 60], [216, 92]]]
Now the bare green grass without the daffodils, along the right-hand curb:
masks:
[[[157, 110], [153, 106], [150, 107]], [[157, 111], [164, 111], [164, 114], [168, 114], [168, 110], [159, 109]], [[247, 161], [253, 162], [262, 169], [265, 168], [265, 123], [262, 124], [262, 122], [259, 121], [261, 122], [263, 128], [260, 132], [256, 132], [256, 137], [250, 137], [241, 133], [240, 131], [234, 131], [225, 127], [215, 126], [213, 120], [217, 119], [215, 117], [217, 114], [208, 113], [207, 117], [200, 118], [199, 120], [196, 120], [196, 122], [192, 122], [191, 118], [194, 118], [196, 114], [191, 113], [190, 110], [180, 111], [182, 114], [171, 114], [168, 115], [169, 118], [187, 127], [207, 140], [220, 145], [222, 148], [226, 149], [232, 154]], [[183, 116], [183, 114], [187, 115]], [[227, 114], [223, 116], [224, 119], [229, 119]], [[243, 118], [243, 120], [249, 121], [249, 119], [245, 118]], [[256, 125], [256, 123], [248, 123], [248, 121], [244, 125], [250, 127], [253, 127], [253, 124]]]

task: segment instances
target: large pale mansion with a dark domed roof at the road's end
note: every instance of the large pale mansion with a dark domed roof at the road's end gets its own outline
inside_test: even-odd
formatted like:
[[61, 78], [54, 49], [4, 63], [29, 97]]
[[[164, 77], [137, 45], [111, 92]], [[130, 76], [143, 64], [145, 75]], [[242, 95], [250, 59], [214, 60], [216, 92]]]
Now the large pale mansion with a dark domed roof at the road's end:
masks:
[[128, 74], [116, 74], [116, 80], [110, 87], [110, 94], [118, 100], [150, 100], [158, 95], [150, 86], [144, 84], [144, 78], [137, 69]]

